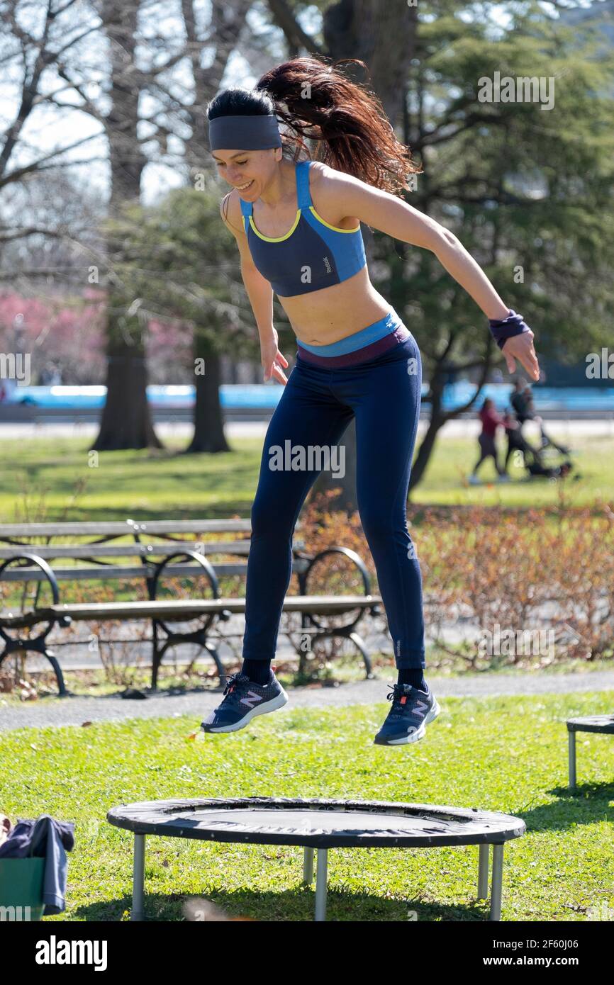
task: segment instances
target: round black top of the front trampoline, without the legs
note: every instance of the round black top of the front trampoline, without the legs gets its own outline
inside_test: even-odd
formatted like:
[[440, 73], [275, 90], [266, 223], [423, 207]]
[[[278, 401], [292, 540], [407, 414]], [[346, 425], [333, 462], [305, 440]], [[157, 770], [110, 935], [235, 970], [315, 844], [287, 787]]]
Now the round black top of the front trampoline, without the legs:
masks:
[[476, 808], [266, 797], [127, 804], [106, 820], [136, 834], [319, 848], [502, 843], [526, 829]]

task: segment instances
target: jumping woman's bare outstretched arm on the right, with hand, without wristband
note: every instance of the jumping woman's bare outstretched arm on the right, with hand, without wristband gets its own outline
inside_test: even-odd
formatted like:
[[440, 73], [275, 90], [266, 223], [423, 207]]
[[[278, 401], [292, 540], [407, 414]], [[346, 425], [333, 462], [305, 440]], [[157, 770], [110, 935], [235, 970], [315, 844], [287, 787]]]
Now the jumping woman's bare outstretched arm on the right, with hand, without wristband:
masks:
[[[510, 308], [453, 232], [396, 195], [374, 188], [351, 174], [329, 168], [321, 177], [324, 180], [320, 178], [315, 187], [322, 208], [332, 210], [339, 220], [356, 217], [367, 226], [385, 232], [394, 239], [431, 250], [487, 318], [508, 316]], [[539, 366], [532, 340], [532, 332], [523, 332], [508, 339], [502, 352], [511, 372], [515, 369], [515, 356], [527, 372], [534, 378], [539, 378]]]

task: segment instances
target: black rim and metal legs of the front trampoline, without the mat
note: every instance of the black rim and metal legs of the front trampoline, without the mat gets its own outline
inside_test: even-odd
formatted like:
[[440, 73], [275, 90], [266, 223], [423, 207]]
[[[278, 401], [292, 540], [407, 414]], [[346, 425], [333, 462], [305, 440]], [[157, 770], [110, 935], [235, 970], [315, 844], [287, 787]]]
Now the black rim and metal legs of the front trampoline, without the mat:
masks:
[[[339, 840], [339, 837], [335, 837], [331, 834], [305, 834], [293, 836], [289, 834], [275, 835], [269, 832], [258, 832], [252, 831], [249, 833], [239, 833], [230, 832], [228, 830], [216, 831], [215, 829], [197, 829], [187, 827], [185, 829], [175, 829], [170, 830], [164, 829], [164, 822], [155, 821], [139, 821], [130, 818], [126, 818], [122, 813], [123, 810], [129, 810], [130, 808], [151, 808], [154, 809], [161, 805], [172, 804], [175, 807], [183, 805], [185, 809], [190, 807], [200, 807], [200, 808], [223, 808], [223, 807], [235, 807], [235, 808], [285, 808], [287, 810], [301, 809], [301, 810], [343, 810], [343, 811], [357, 811], [357, 812], [371, 812], [371, 813], [388, 813], [390, 815], [396, 814], [397, 816], [403, 812], [405, 814], [418, 814], [419, 816], [424, 816], [428, 814], [431, 819], [437, 812], [442, 813], [442, 815], [450, 820], [458, 819], [464, 821], [472, 820], [474, 816], [475, 821], [483, 821], [488, 824], [488, 821], [497, 822], [503, 824], [503, 822], [509, 822], [506, 827], [501, 827], [499, 830], [492, 831], [490, 836], [488, 830], [483, 832], [476, 832], [467, 834], [465, 839], [462, 839], [459, 835], [454, 836], [443, 836], [443, 838], [429, 838], [428, 835], [420, 836], [409, 836], [400, 835], [387, 836], [385, 843], [381, 841], [379, 845], [375, 844], [356, 844], [347, 842], [344, 844]], [[316, 922], [321, 922], [326, 920], [326, 897], [328, 888], [328, 849], [329, 847], [443, 847], [443, 845], [467, 845], [467, 844], [477, 844], [479, 847], [478, 853], [478, 881], [477, 881], [477, 899], [486, 899], [489, 894], [489, 873], [490, 873], [490, 847], [493, 846], [493, 857], [492, 857], [492, 881], [490, 886], [490, 920], [500, 921], [501, 920], [501, 904], [502, 904], [502, 889], [503, 889], [503, 865], [504, 865], [504, 846], [505, 842], [515, 838], [520, 837], [524, 834], [526, 830], [526, 825], [524, 821], [519, 818], [514, 818], [512, 815], [506, 815], [495, 812], [485, 812], [478, 811], [476, 808], [463, 809], [463, 808], [446, 808], [442, 806], [426, 805], [426, 804], [395, 804], [389, 801], [337, 801], [337, 800], [321, 800], [321, 799], [303, 799], [303, 798], [284, 798], [284, 797], [241, 797], [241, 798], [207, 798], [204, 800], [170, 800], [170, 801], [151, 801], [143, 804], [133, 804], [133, 805], [122, 805], [122, 807], [112, 808], [108, 811], [106, 815], [106, 820], [111, 824], [115, 824], [118, 827], [127, 828], [131, 830], [134, 834], [134, 857], [133, 857], [133, 872], [132, 872], [132, 910], [130, 913], [130, 920], [142, 921], [144, 917], [144, 903], [145, 903], [145, 838], [148, 834], [156, 834], [163, 837], [192, 837], [199, 838], [202, 840], [216, 840], [224, 842], [233, 843], [255, 843], [255, 844], [290, 844], [295, 846], [303, 847], [303, 884], [309, 886], [313, 882], [313, 853], [317, 851], [317, 859], [315, 866], [315, 908], [314, 908], [314, 920]], [[234, 833], [234, 836], [231, 836]], [[309, 840], [311, 843], [306, 844], [305, 841]], [[327, 846], [323, 842], [326, 841], [337, 841], [336, 845]], [[416, 844], [412, 845], [411, 841], [416, 841]]]

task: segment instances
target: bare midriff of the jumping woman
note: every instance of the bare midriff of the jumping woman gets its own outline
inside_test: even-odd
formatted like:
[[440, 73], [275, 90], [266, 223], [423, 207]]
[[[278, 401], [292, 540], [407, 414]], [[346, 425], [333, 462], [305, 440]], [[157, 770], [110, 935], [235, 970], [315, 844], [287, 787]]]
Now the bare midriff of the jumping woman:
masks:
[[341, 284], [305, 295], [279, 297], [300, 342], [329, 346], [373, 325], [391, 305], [375, 291], [367, 266]]

